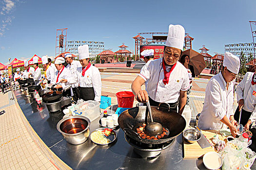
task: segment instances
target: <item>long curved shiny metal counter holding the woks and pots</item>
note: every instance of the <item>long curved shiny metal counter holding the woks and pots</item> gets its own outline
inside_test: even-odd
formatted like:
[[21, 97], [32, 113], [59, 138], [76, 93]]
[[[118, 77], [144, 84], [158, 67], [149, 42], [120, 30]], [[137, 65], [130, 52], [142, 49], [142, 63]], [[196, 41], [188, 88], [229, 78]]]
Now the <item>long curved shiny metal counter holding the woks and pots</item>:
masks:
[[[80, 145], [71, 145], [63, 139], [57, 130], [57, 123], [63, 113], [49, 114], [43, 104], [27, 98], [20, 90], [13, 91], [26, 119], [42, 141], [64, 163], [74, 170], [204, 170], [202, 159], [183, 159], [182, 134], [176, 137], [170, 147], [163, 150], [158, 157], [141, 158], [124, 138], [119, 128], [116, 142], [100, 146], [90, 138]], [[99, 118], [91, 122], [90, 132], [99, 128]], [[253, 168], [253, 167], [252, 167]]]

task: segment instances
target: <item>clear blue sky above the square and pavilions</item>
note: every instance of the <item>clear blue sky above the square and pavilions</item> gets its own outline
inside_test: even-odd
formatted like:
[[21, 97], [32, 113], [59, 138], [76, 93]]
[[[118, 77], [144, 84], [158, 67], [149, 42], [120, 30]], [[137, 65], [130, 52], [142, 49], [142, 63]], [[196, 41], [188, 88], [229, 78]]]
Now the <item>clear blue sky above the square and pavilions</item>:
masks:
[[168, 32], [180, 24], [213, 56], [225, 44], [253, 42], [249, 21], [256, 21], [256, 0], [0, 0], [0, 62], [55, 56], [57, 29], [68, 40], [103, 41], [118, 51], [143, 32]]

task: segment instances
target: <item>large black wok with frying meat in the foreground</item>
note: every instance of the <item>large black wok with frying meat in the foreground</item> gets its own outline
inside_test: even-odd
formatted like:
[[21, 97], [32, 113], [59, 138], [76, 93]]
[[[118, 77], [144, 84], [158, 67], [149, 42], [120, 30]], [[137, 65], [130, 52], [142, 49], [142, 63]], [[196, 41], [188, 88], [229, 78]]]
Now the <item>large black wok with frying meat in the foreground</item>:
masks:
[[[161, 139], [143, 139], [136, 132], [136, 128], [145, 122], [147, 106], [133, 107], [122, 112], [118, 117], [118, 124], [126, 135], [146, 144], [160, 144], [168, 142], [178, 136], [185, 129], [186, 120], [177, 112], [156, 106], [151, 106], [151, 110], [154, 121], [161, 123], [162, 126], [169, 131], [167, 136], [164, 136]], [[149, 120], [150, 117], [149, 114], [147, 114], [146, 121], [150, 122]]]

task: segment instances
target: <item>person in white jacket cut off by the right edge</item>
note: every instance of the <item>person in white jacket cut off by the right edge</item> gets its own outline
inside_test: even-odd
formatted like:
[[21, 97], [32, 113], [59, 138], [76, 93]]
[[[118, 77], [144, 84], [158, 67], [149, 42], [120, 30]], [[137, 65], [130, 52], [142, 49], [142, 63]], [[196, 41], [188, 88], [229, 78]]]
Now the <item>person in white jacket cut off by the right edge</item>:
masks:
[[256, 120], [256, 72], [247, 72], [243, 80], [236, 87], [238, 107], [234, 118], [239, 121], [239, 112], [241, 112], [240, 124], [249, 130], [249, 126]]

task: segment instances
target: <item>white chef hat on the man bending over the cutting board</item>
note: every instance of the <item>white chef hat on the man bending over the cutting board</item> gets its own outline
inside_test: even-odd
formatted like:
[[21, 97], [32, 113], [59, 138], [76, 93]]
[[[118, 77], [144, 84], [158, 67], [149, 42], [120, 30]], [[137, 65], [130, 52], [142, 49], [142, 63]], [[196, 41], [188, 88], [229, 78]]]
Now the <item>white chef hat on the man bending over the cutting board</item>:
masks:
[[225, 52], [223, 66], [227, 67], [231, 72], [238, 74], [240, 68], [240, 59], [230, 52]]

